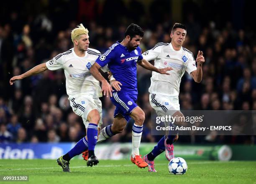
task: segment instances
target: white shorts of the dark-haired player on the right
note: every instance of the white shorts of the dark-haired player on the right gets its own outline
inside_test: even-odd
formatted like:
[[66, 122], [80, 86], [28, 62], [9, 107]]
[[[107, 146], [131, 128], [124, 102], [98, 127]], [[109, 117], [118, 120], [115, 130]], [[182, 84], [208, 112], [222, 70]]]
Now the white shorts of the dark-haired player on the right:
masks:
[[[149, 103], [158, 116], [173, 115], [179, 111], [179, 96], [164, 96], [150, 93]], [[167, 112], [168, 111], [168, 112]]]

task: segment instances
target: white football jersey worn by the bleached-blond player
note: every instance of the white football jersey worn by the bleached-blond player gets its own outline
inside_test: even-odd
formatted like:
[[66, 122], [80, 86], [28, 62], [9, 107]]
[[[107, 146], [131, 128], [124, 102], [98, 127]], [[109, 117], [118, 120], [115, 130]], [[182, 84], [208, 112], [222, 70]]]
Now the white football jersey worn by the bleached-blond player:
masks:
[[[84, 57], [79, 57], [72, 48], [47, 61], [46, 67], [49, 70], [64, 69], [69, 98], [71, 96], [87, 95], [88, 93], [101, 97], [100, 82], [89, 71], [100, 54], [100, 51], [88, 48]], [[109, 71], [108, 66], [101, 69], [104, 72]]]

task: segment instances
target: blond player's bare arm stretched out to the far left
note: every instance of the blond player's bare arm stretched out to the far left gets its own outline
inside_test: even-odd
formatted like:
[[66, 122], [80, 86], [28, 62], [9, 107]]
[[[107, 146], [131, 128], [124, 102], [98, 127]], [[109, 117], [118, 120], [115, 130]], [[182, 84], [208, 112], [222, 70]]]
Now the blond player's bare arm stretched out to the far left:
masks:
[[43, 71], [46, 71], [48, 68], [46, 67], [46, 63], [42, 63], [40, 65], [35, 66], [31, 70], [27, 71], [26, 73], [23, 73], [19, 76], [14, 76], [10, 79], [10, 85], [13, 85], [13, 83], [17, 80], [21, 80], [23, 78], [35, 75], [37, 73], [41, 73]]

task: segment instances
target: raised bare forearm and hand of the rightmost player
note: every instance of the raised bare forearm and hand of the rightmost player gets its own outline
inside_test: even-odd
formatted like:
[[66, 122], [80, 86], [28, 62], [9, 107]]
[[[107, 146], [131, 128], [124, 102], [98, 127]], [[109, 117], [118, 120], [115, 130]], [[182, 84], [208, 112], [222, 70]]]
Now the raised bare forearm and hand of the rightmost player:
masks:
[[202, 81], [202, 64], [205, 63], [205, 57], [203, 56], [202, 51], [198, 51], [197, 53], [197, 70], [191, 72], [191, 76], [193, 77], [196, 83], [200, 83]]

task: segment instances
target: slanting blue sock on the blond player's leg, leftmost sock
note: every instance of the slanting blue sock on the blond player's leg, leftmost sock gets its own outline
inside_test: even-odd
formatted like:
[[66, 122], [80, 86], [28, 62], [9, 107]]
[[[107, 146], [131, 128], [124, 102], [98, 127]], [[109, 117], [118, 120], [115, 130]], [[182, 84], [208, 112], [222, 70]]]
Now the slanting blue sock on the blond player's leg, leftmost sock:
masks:
[[85, 150], [88, 149], [88, 142], [87, 140], [85, 139], [85, 137], [83, 137], [80, 141], [77, 142], [77, 144], [74, 146], [74, 148], [72, 148], [69, 152], [68, 152], [68, 155], [69, 155], [69, 158], [67, 156], [67, 160], [66, 161], [69, 161], [70, 159], [72, 159], [74, 156], [76, 155], [79, 155], [81, 154], [82, 152], [84, 152]]

